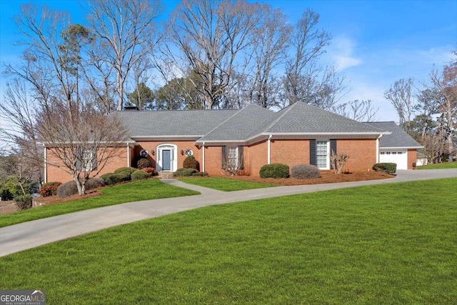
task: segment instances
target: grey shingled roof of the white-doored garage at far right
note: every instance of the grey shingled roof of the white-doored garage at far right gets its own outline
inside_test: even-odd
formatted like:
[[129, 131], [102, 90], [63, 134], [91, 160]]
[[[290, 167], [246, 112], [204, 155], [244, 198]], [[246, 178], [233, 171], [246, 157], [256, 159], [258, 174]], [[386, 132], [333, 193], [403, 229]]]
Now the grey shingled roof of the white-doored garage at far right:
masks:
[[391, 134], [386, 134], [379, 140], [379, 147], [382, 149], [388, 148], [409, 148], [421, 149], [423, 146], [406, 133], [394, 121], [385, 122], [366, 122], [366, 124], [391, 131]]

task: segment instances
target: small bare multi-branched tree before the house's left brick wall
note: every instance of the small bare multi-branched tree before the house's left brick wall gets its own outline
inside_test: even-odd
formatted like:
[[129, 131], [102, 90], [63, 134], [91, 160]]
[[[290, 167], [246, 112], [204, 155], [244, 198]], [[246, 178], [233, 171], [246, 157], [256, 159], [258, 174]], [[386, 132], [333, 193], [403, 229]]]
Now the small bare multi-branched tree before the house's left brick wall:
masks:
[[121, 121], [91, 106], [68, 109], [54, 104], [41, 111], [35, 129], [46, 146], [46, 164], [69, 172], [80, 195], [89, 176], [96, 176], [111, 158], [120, 156], [126, 142]]

